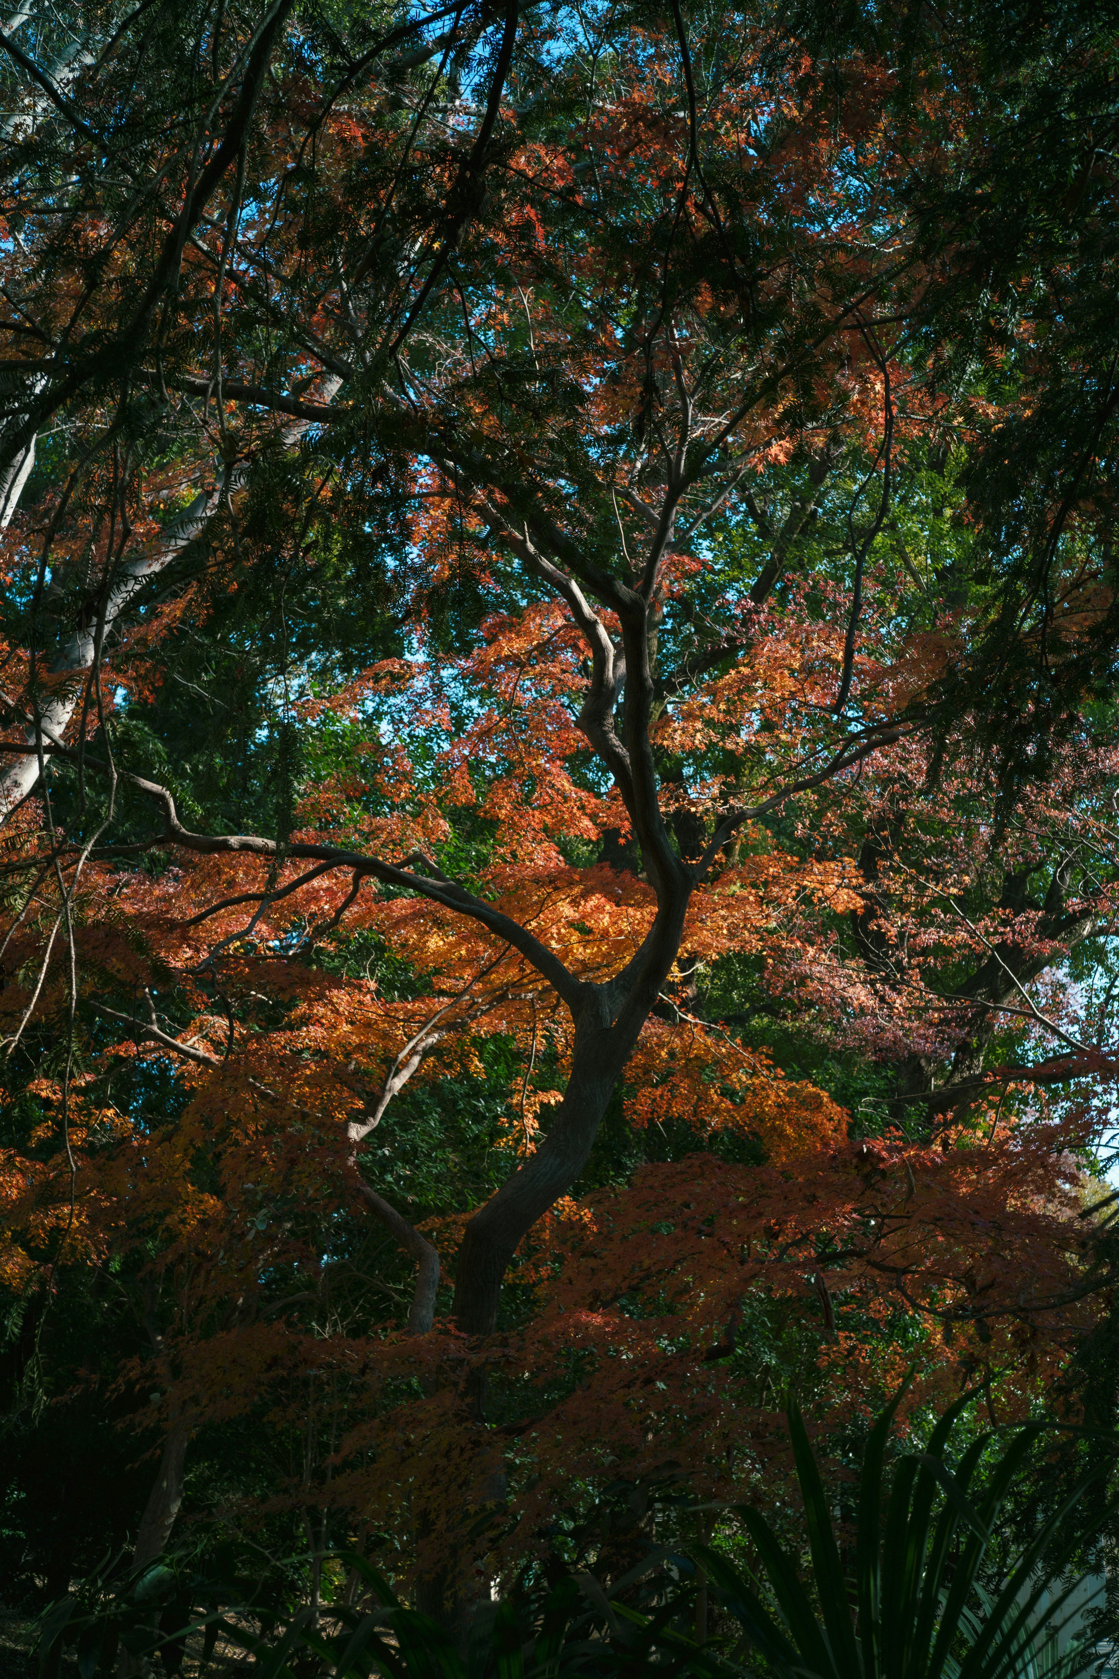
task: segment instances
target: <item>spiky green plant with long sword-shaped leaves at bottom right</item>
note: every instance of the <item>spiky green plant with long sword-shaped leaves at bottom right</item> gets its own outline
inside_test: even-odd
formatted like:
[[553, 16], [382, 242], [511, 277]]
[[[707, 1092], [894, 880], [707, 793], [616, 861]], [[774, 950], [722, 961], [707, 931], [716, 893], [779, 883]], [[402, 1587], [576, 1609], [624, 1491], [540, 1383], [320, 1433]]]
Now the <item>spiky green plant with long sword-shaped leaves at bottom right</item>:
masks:
[[[1050, 1674], [1044, 1645], [1075, 1590], [1077, 1582], [1065, 1577], [1069, 1558], [1119, 1509], [1111, 1503], [1104, 1511], [1094, 1509], [1087, 1531], [1067, 1521], [1085, 1488], [1107, 1472], [1107, 1464], [1084, 1476], [1012, 1568], [1000, 1572], [1000, 1588], [991, 1600], [980, 1580], [988, 1536], [1044, 1424], [1017, 1432], [986, 1476], [981, 1496], [975, 1498], [970, 1489], [990, 1451], [990, 1436], [971, 1442], [955, 1474], [945, 1462], [951, 1431], [973, 1397], [965, 1395], [941, 1417], [928, 1451], [899, 1457], [884, 1536], [879, 1535], [882, 1474], [898, 1400], [871, 1431], [859, 1489], [857, 1578], [851, 1582], [859, 1593], [857, 1635], [824, 1483], [804, 1424], [790, 1407], [809, 1523], [812, 1592], [800, 1582], [797, 1553], [780, 1545], [757, 1509], [745, 1508], [740, 1514], [758, 1555], [758, 1578], [743, 1577], [710, 1546], [691, 1551], [706, 1570], [721, 1608], [740, 1622], [773, 1679], [805, 1679], [809, 1674], [814, 1679], [1022, 1679], [1042, 1671], [1049, 1679], [1079, 1679], [1097, 1661], [1094, 1649], [1072, 1650], [1067, 1664], [1062, 1659], [1060, 1671]], [[1069, 1538], [1055, 1548], [1059, 1531]], [[1042, 1603], [1057, 1580], [1060, 1590]], [[711, 1662], [718, 1662], [718, 1652], [684, 1650], [679, 1634], [671, 1629], [658, 1627], [654, 1642], [674, 1659], [683, 1657], [693, 1674], [716, 1679]]]

